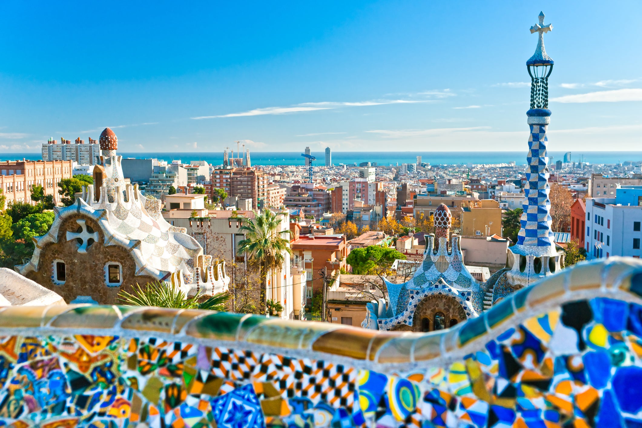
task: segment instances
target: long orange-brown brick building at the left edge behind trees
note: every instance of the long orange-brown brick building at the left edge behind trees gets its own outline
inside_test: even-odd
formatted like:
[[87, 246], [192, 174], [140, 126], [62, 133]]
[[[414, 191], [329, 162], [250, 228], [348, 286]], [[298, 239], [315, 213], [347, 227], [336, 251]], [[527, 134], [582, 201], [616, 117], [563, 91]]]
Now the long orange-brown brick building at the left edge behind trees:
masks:
[[[41, 185], [54, 202], [60, 200], [58, 182], [71, 178], [71, 160], [18, 160], [0, 162], [0, 189], [6, 197], [3, 209], [12, 201], [31, 202], [31, 188]], [[35, 203], [35, 202], [34, 202]]]

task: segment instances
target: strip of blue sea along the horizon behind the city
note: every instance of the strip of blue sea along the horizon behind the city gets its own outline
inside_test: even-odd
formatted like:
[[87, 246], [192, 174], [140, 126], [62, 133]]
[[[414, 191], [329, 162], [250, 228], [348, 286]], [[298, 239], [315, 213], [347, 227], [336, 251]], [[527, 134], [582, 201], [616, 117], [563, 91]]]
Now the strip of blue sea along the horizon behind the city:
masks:
[[[145, 152], [132, 153], [119, 151], [124, 158], [158, 158], [171, 162], [178, 160], [187, 164], [193, 160], [205, 160], [209, 164], [220, 165], [223, 163], [222, 152]], [[236, 155], [236, 153], [235, 153]], [[325, 152], [313, 151], [317, 157], [313, 166], [325, 165]], [[552, 162], [563, 160], [563, 151], [549, 151]], [[377, 166], [397, 166], [397, 164], [414, 164], [417, 156], [421, 161], [431, 165], [462, 165], [462, 164], [526, 164], [526, 151], [333, 151], [333, 165], [346, 164], [347, 166], [359, 165], [361, 162], [376, 162]], [[0, 153], [0, 161], [4, 160], [40, 160], [40, 153]], [[304, 164], [304, 157], [299, 151], [252, 151], [250, 160], [253, 166], [277, 165], [291, 166]], [[617, 164], [620, 162], [641, 162], [642, 151], [573, 151], [572, 162], [589, 162], [589, 164]]]

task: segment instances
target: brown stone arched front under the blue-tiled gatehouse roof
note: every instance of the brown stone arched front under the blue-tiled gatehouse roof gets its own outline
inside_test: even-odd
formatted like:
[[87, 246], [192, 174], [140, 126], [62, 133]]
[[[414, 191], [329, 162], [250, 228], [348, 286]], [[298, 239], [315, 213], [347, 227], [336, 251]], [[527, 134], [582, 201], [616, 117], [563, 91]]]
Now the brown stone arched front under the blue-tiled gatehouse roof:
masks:
[[455, 298], [446, 295], [424, 297], [413, 315], [413, 330], [426, 332], [453, 327], [468, 317]]

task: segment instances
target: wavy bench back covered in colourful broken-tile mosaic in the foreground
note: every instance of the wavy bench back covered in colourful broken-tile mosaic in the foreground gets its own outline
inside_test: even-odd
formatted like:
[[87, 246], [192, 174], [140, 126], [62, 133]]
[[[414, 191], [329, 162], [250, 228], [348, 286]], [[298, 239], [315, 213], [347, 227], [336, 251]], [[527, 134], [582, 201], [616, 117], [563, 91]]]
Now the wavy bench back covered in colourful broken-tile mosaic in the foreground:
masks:
[[0, 420], [19, 428], [639, 426], [641, 295], [642, 264], [612, 258], [429, 334], [191, 309], [6, 307]]

